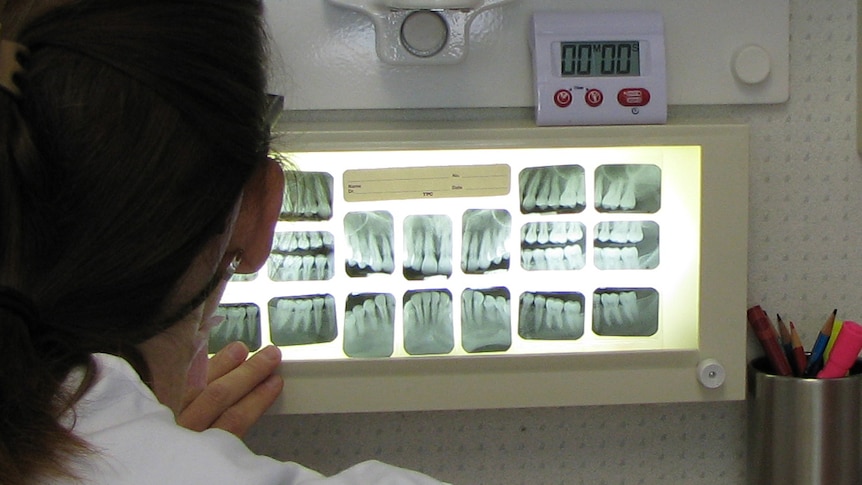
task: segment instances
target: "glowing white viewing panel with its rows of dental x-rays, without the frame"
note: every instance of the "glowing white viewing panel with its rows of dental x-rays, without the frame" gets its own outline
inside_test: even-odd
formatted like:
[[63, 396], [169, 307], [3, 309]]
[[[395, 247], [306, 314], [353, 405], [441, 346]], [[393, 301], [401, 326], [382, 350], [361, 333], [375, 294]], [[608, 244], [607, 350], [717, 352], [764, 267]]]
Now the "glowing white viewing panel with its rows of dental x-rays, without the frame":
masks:
[[662, 302], [698, 285], [699, 147], [288, 157], [272, 253], [229, 283], [213, 352], [554, 354], [691, 333], [663, 324]]

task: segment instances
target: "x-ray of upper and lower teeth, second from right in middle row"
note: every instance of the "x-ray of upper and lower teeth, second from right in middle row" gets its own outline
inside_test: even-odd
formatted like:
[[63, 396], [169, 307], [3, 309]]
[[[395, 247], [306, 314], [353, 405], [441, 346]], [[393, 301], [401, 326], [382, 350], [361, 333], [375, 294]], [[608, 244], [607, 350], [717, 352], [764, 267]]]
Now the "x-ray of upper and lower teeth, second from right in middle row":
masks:
[[582, 269], [584, 245], [580, 222], [529, 222], [521, 226], [521, 267], [527, 271]]

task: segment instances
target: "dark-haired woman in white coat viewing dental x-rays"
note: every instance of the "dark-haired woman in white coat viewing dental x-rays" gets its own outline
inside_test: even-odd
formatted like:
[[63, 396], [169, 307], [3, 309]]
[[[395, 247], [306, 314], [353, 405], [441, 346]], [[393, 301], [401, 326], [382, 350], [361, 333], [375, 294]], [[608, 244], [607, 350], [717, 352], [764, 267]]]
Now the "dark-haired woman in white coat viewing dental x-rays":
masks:
[[241, 434], [282, 385], [278, 349], [228, 347], [207, 375], [204, 345], [281, 205], [260, 17], [0, 2], [0, 483], [437, 483], [326, 479], [200, 431]]

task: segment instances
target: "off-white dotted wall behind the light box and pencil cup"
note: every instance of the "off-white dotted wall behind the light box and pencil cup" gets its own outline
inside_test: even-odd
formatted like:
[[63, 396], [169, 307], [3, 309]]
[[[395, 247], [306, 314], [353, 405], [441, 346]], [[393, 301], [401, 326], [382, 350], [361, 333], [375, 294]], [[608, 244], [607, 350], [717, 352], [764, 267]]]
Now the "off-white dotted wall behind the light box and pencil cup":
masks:
[[[806, 344], [833, 308], [862, 319], [856, 8], [791, 1], [788, 103], [670, 110], [751, 125], [748, 303], [795, 322]], [[327, 474], [379, 459], [460, 485], [745, 479], [744, 402], [268, 416], [247, 441]]]

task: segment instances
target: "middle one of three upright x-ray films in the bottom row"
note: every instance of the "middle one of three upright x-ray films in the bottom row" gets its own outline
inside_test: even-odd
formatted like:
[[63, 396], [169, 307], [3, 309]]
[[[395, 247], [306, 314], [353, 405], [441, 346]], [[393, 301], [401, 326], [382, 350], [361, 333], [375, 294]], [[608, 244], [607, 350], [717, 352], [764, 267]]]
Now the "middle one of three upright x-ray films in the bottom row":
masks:
[[452, 294], [447, 290], [404, 295], [404, 350], [410, 355], [448, 354], [455, 348]]

